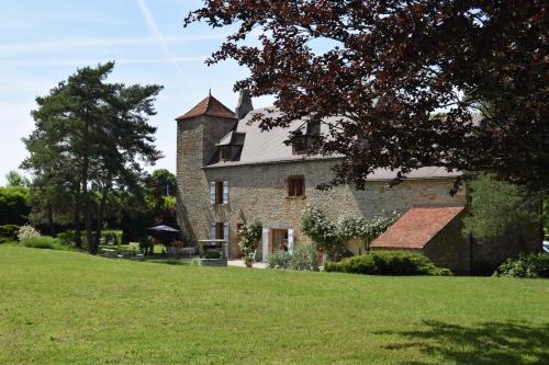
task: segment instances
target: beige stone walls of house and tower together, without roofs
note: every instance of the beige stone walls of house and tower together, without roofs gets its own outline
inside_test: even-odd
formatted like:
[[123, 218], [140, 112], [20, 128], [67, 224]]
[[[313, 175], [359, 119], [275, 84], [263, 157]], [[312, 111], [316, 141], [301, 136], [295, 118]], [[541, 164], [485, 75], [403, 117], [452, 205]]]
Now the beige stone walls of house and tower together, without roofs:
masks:
[[[450, 179], [410, 180], [395, 187], [369, 182], [365, 191], [349, 185], [320, 191], [332, 179], [334, 159], [301, 160], [210, 168], [215, 144], [235, 121], [200, 116], [178, 122], [178, 217], [187, 240], [211, 238], [212, 223], [228, 224], [231, 259], [239, 256], [237, 225], [259, 220], [265, 228], [293, 229], [294, 242], [309, 242], [300, 231], [300, 215], [307, 204], [325, 210], [330, 218], [346, 215], [373, 216], [405, 212], [422, 204], [464, 204], [464, 193], [449, 195]], [[305, 196], [289, 197], [289, 176], [303, 175]], [[228, 183], [228, 204], [212, 205], [210, 183]]]

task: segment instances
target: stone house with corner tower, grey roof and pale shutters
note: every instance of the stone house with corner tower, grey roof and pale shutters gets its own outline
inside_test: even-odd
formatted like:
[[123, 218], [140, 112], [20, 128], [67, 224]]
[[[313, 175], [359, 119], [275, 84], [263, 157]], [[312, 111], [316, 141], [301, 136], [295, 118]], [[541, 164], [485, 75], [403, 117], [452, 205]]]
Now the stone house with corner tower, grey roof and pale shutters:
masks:
[[[461, 212], [466, 205], [463, 190], [449, 194], [459, 172], [436, 167], [415, 170], [394, 187], [386, 184], [394, 178], [393, 172], [379, 170], [369, 176], [365, 191], [350, 185], [320, 191], [316, 186], [330, 181], [337, 158], [307, 156], [285, 145], [289, 129], [261, 132], [257, 124], [248, 123], [254, 113], [276, 112], [254, 110], [246, 93], [240, 94], [233, 112], [210, 94], [176, 118], [178, 220], [187, 241], [226, 240], [227, 256], [236, 259], [240, 256], [239, 226], [259, 220], [264, 232], [256, 258], [265, 261], [274, 250], [292, 251], [295, 244], [309, 243], [300, 231], [300, 215], [307, 204], [334, 219], [405, 213], [422, 206], [438, 207], [451, 215], [456, 207]], [[295, 128], [303, 128], [305, 135], [314, 133], [314, 127], [303, 121], [292, 123], [290, 130]], [[437, 227], [437, 232], [451, 220]], [[455, 260], [437, 262], [468, 272], [469, 255], [463, 251], [467, 244], [459, 231], [447, 231], [451, 233], [440, 244], [457, 246], [452, 248]], [[388, 249], [388, 242], [380, 249]], [[397, 244], [393, 242], [396, 249]], [[360, 247], [355, 251], [359, 253]]]

